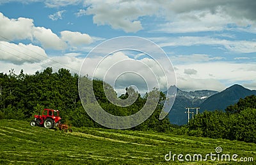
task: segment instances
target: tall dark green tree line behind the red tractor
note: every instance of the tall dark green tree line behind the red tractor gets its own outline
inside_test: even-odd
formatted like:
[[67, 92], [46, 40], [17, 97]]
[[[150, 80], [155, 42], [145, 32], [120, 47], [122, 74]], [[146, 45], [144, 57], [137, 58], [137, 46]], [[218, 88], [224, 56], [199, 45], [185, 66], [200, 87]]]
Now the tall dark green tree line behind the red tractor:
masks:
[[[42, 72], [35, 74], [24, 74], [21, 70], [15, 74], [10, 70], [9, 74], [0, 73], [0, 119], [32, 120], [34, 114], [42, 113], [42, 109], [58, 109], [63, 122], [70, 123], [74, 127], [102, 127], [94, 122], [84, 111], [78, 92], [78, 74], [71, 74], [69, 70], [61, 68], [58, 72], [52, 72], [52, 68], [45, 68]], [[116, 116], [129, 116], [138, 112], [147, 101], [147, 94], [141, 96], [133, 88], [126, 88], [126, 93], [120, 95], [120, 99], [125, 100], [129, 93], [136, 93], [138, 98], [131, 106], [120, 107], [109, 102], [104, 94], [103, 81], [99, 79], [89, 79], [93, 81], [93, 91], [100, 106]], [[108, 85], [108, 84], [107, 84]], [[111, 88], [111, 86], [109, 86]], [[113, 88], [111, 88], [113, 90]], [[159, 120], [159, 114], [163, 108], [165, 95], [159, 92], [160, 99], [156, 111], [145, 122], [132, 128], [132, 130], [154, 130], [166, 132], [170, 129], [168, 118]], [[112, 93], [115, 93], [113, 90]], [[117, 97], [116, 93], [113, 97]]]

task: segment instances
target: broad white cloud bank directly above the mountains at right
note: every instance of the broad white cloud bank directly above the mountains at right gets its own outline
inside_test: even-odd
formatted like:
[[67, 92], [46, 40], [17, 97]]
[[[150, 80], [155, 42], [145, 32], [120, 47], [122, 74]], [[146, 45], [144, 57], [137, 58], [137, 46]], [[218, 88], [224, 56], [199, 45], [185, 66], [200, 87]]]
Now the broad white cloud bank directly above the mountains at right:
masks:
[[[186, 90], [223, 90], [225, 86], [230, 86], [241, 81], [255, 81], [256, 63], [231, 63], [214, 62], [186, 63], [175, 65], [177, 75], [177, 85]], [[193, 68], [196, 74], [189, 76], [183, 71], [186, 68]]]

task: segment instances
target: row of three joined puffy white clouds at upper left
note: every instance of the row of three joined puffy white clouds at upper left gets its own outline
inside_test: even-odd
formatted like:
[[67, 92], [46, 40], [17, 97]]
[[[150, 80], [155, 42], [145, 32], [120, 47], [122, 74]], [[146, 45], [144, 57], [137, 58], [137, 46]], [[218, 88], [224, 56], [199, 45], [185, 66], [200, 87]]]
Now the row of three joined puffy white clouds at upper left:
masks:
[[[65, 50], [68, 45], [76, 47], [81, 44], [89, 44], [93, 39], [88, 34], [72, 31], [61, 31], [61, 37], [51, 29], [36, 27], [32, 19], [18, 18], [8, 19], [0, 13], [0, 40], [25, 40], [40, 43], [44, 49]], [[68, 44], [67, 44], [68, 43]]]

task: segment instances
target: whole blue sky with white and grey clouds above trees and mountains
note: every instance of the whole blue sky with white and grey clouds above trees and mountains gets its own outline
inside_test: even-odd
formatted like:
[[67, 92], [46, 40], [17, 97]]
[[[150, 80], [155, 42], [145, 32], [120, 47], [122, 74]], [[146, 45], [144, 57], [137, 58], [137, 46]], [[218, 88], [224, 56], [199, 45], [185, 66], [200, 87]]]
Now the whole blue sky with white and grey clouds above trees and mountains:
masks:
[[[238, 0], [3, 0], [0, 72], [14, 68], [17, 74], [21, 69], [33, 74], [46, 67], [79, 72], [88, 52], [99, 43], [140, 36], [166, 52], [182, 90], [221, 91], [235, 83], [255, 90], [255, 8], [255, 1]], [[131, 54], [112, 54], [105, 63], [113, 63], [114, 58], [147, 59]], [[122, 87], [134, 80], [123, 78], [118, 81]]]

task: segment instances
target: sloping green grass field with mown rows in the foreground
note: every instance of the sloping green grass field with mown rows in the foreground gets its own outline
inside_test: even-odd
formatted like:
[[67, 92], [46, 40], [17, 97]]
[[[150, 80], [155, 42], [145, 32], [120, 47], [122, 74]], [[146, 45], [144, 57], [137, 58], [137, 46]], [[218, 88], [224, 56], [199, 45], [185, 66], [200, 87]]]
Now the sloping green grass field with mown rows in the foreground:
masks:
[[[0, 164], [254, 164], [256, 144], [225, 139], [195, 138], [93, 128], [72, 128], [74, 132], [31, 127], [29, 122], [0, 120]], [[194, 154], [237, 154], [237, 162], [193, 161]], [[192, 161], [166, 161], [164, 155], [186, 154]], [[247, 162], [241, 162], [241, 157]], [[187, 157], [189, 158], [189, 157]], [[252, 161], [252, 158], [255, 160]], [[216, 156], [216, 159], [218, 157]], [[232, 159], [232, 158], [231, 158]], [[250, 159], [250, 160], [249, 160]], [[250, 161], [250, 162], [248, 162]], [[256, 163], [255, 163], [256, 164]]]

